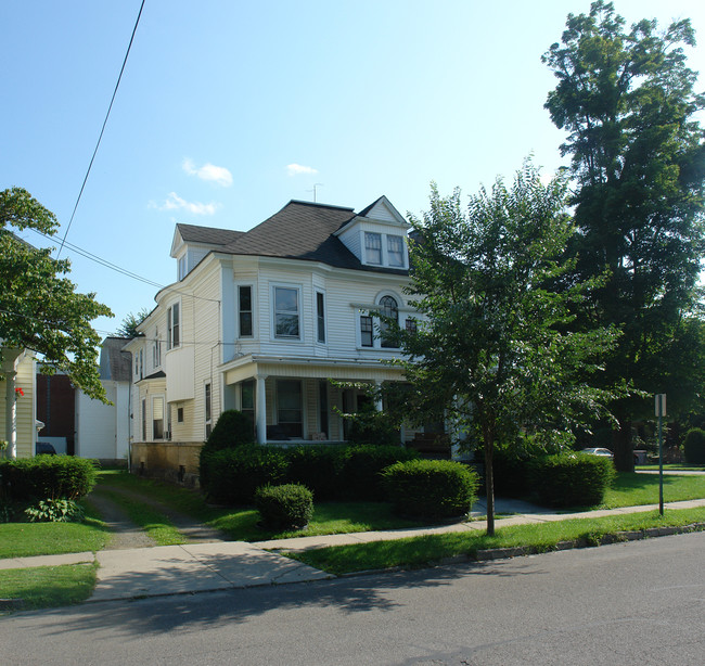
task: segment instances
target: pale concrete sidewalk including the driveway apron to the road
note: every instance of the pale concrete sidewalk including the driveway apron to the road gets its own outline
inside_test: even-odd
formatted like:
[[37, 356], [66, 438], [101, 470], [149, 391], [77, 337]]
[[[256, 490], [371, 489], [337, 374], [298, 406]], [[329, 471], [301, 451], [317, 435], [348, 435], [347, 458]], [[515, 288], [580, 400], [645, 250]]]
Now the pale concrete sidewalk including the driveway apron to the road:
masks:
[[[694, 509], [697, 507], [705, 507], [705, 499], [666, 504], [667, 509]], [[475, 504], [474, 509], [474, 515], [484, 516], [485, 507], [482, 503]], [[496, 527], [499, 529], [509, 525], [620, 515], [654, 511], [654, 509], [657, 509], [657, 505], [650, 504], [646, 507], [626, 507], [623, 509], [559, 514], [554, 512], [547, 513], [546, 509], [526, 502], [500, 499], [496, 504], [496, 513], [498, 515], [508, 513], [513, 515], [497, 518]], [[91, 564], [95, 561], [99, 564], [98, 584], [89, 601], [140, 599], [144, 597], [303, 582], [333, 577], [324, 572], [285, 558], [275, 551], [300, 552], [326, 546], [366, 543], [433, 534], [484, 530], [485, 528], [486, 522], [476, 520], [470, 523], [452, 523], [416, 529], [298, 537], [257, 543], [226, 541], [105, 550], [97, 554], [86, 552], [0, 560], [0, 568]]]

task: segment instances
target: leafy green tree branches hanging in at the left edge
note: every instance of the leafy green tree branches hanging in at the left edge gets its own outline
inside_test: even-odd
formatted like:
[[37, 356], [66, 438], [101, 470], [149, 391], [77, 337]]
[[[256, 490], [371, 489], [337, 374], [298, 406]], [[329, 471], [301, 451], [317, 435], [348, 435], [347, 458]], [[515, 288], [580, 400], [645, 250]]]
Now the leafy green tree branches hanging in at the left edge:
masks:
[[54, 214], [26, 190], [0, 192], [0, 341], [4, 347], [37, 351], [49, 371], [65, 372], [86, 394], [104, 399], [98, 372], [101, 338], [90, 321], [112, 312], [94, 294], [76, 293], [64, 277], [68, 260], [52, 259], [49, 249], [33, 247], [10, 229], [52, 235], [57, 227]]

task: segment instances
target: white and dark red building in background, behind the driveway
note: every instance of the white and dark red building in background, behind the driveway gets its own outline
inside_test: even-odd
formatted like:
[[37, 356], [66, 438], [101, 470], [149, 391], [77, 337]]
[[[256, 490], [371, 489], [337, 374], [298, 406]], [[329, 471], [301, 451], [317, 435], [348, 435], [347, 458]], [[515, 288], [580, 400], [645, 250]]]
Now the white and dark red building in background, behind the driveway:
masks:
[[129, 340], [106, 337], [101, 345], [100, 379], [111, 405], [76, 389], [61, 373], [37, 375], [37, 413], [44, 427], [39, 440], [57, 453], [121, 462], [129, 454], [132, 356]]

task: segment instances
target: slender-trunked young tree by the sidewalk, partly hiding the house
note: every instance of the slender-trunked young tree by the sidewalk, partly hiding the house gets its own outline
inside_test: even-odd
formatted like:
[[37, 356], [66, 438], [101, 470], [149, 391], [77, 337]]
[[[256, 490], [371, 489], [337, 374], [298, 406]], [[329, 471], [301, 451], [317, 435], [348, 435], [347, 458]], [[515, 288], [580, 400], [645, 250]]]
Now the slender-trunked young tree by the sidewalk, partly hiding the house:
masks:
[[407, 413], [444, 415], [483, 443], [487, 529], [495, 530], [492, 452], [520, 428], [569, 433], [603, 414], [611, 397], [578, 381], [598, 371], [590, 359], [612, 344], [607, 329], [568, 332], [569, 306], [584, 285], [552, 289], [574, 268], [564, 260], [574, 233], [564, 210], [565, 184], [543, 185], [527, 163], [508, 189], [470, 197], [466, 213], [457, 190], [432, 189], [431, 209], [411, 219], [412, 284], [420, 312], [416, 331], [394, 332], [411, 384]]

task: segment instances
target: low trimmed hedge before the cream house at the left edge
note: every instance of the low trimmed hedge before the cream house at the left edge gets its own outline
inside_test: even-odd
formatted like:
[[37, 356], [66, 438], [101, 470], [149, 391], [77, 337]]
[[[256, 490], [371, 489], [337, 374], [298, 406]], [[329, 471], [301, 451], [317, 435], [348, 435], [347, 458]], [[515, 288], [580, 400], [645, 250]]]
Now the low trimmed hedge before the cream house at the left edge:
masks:
[[0, 461], [0, 496], [20, 501], [76, 500], [95, 485], [95, 462], [73, 456]]

